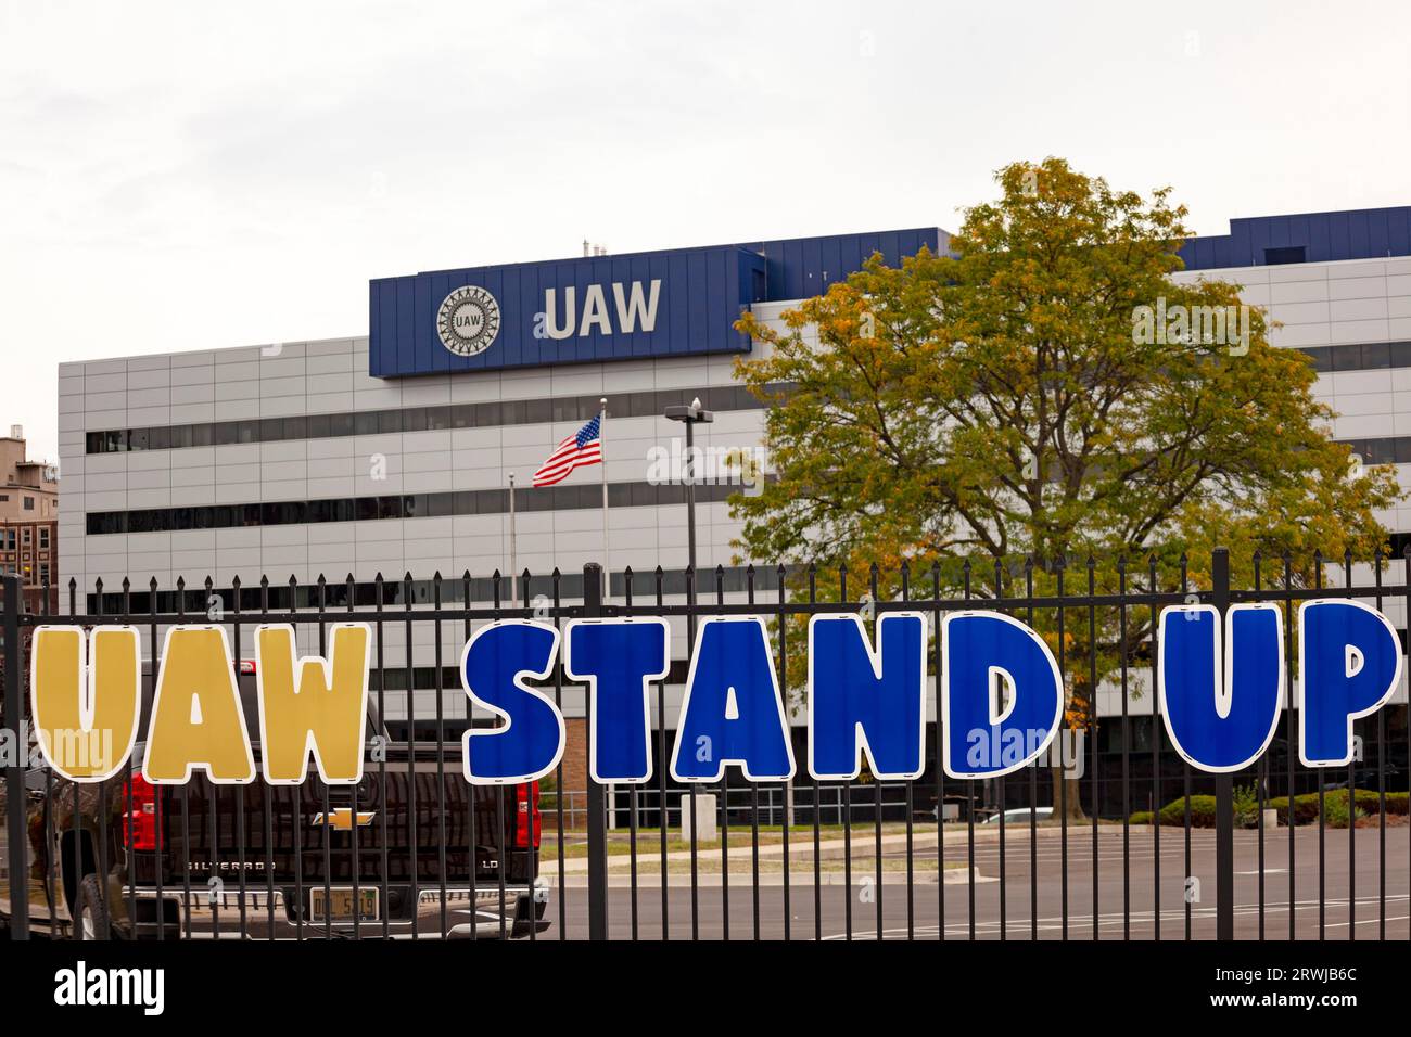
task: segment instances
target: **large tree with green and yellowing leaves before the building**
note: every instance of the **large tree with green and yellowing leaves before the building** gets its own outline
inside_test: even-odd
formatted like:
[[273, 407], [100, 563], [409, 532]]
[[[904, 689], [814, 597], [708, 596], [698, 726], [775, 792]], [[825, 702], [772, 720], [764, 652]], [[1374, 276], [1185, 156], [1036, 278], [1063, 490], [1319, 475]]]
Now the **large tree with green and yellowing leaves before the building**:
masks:
[[[1246, 581], [1256, 553], [1280, 577], [1288, 554], [1295, 584], [1315, 547], [1383, 547], [1394, 473], [1329, 437], [1312, 365], [1268, 344], [1237, 284], [1170, 279], [1189, 237], [1170, 189], [1115, 190], [1058, 158], [996, 179], [951, 254], [872, 257], [783, 329], [739, 320], [765, 344], [737, 372], [773, 405], [775, 471], [734, 498], [742, 553], [847, 564], [856, 600], [872, 563], [883, 597], [903, 563], [921, 594], [1106, 594], [1208, 588], [1216, 545]], [[1096, 686], [1143, 652], [1154, 611], [1031, 617], [1071, 728], [1092, 728]]]

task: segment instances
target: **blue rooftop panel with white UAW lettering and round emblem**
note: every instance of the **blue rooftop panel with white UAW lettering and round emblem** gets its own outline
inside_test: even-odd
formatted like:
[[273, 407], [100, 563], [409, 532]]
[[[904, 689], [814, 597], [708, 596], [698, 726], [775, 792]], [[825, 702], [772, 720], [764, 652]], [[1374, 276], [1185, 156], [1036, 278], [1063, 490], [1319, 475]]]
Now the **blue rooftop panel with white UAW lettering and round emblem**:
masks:
[[368, 370], [396, 378], [748, 353], [735, 322], [751, 303], [820, 295], [872, 253], [897, 265], [945, 241], [919, 229], [380, 278]]

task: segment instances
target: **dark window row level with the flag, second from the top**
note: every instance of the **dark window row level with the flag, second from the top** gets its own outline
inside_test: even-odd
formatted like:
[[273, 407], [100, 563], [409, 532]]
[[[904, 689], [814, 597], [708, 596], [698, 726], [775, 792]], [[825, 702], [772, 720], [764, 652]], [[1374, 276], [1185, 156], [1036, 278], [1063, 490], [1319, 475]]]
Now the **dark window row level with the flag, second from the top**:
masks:
[[[696, 499], [701, 504], [724, 501], [739, 490], [741, 487], [735, 484], [706, 483], [696, 487]], [[608, 507], [649, 508], [666, 504], [686, 504], [686, 487], [653, 483], [608, 484]], [[525, 488], [515, 494], [515, 509], [523, 512], [601, 507], [601, 484]], [[368, 522], [373, 519], [444, 518], [447, 515], [504, 515], [508, 511], [508, 490], [459, 490], [442, 494], [95, 511], [87, 515], [87, 533], [89, 536], [103, 536], [107, 533], [161, 533], [175, 529], [288, 526], [309, 522]]]

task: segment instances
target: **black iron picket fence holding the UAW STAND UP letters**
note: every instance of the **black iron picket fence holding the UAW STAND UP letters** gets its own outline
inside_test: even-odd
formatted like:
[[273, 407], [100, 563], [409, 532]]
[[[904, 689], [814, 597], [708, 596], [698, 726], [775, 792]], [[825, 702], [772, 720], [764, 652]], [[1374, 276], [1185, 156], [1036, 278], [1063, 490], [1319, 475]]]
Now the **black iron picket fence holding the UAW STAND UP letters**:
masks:
[[[1362, 583], [1355, 570], [1366, 573]], [[370, 593], [351, 577], [222, 590], [209, 580], [195, 588], [124, 580], [82, 597], [71, 583], [62, 615], [17, 608], [18, 580], [6, 576], [4, 921], [14, 937], [154, 940], [1405, 938], [1404, 694], [1357, 721], [1362, 752], [1345, 769], [1298, 762], [1288, 708], [1261, 759], [1239, 775], [1205, 775], [1171, 751], [1150, 666], [1167, 605], [1273, 601], [1287, 631], [1298, 602], [1314, 597], [1411, 612], [1411, 556], [1360, 566], [1316, 560], [1307, 570], [1312, 580], [1298, 578], [1287, 557], [1256, 557], [1250, 571], [1247, 586], [1232, 587], [1222, 550], [1202, 569], [1204, 587], [1184, 559], [1173, 571], [1158, 571], [1156, 560], [1140, 569], [1048, 566], [1041, 590], [1030, 560], [958, 562], [954, 571], [873, 567], [861, 586], [845, 567], [775, 567], [768, 578], [746, 567], [728, 584], [724, 569], [698, 581], [687, 570], [672, 583], [658, 569], [618, 574], [619, 593], [608, 600], [595, 564], [581, 576], [525, 573], [514, 586], [498, 573], [425, 583], [380, 576]], [[1037, 621], [1060, 672], [1079, 684], [1086, 674], [1086, 704], [1070, 710], [1081, 735], [1065, 738], [1054, 759], [1005, 777], [948, 777], [937, 763], [937, 718], [927, 725], [927, 770], [912, 782], [800, 775], [752, 784], [727, 768], [713, 786], [680, 786], [666, 768], [674, 725], [667, 681], [656, 684], [648, 786], [588, 780], [571, 738], [552, 780], [535, 786], [473, 787], [460, 773], [460, 732], [488, 721], [459, 694], [447, 631], [468, 639], [478, 625], [512, 617], [562, 625], [660, 615], [694, 629], [710, 615], [763, 615], [780, 673], [790, 674], [807, 617], [909, 610], [930, 617], [934, 676], [941, 617], [978, 604]], [[293, 787], [195, 777], [154, 789], [141, 780], [141, 746], [126, 777], [80, 786], [30, 748], [25, 660], [37, 625], [141, 628], [150, 693], [169, 625], [224, 626], [243, 670], [261, 624], [293, 624], [323, 653], [329, 626], [349, 619], [373, 626], [371, 698], [388, 721], [370, 739], [357, 786], [317, 776]], [[423, 631], [432, 648], [422, 646]], [[1110, 643], [1099, 649], [1103, 639]], [[402, 657], [389, 662], [394, 648]], [[1294, 667], [1287, 670], [1285, 703]], [[562, 670], [543, 687], [563, 708], [571, 689]], [[1133, 694], [1139, 687], [1144, 698]], [[426, 705], [418, 689], [435, 703], [428, 715], [418, 715]], [[394, 691], [405, 696], [402, 717], [389, 717]], [[1103, 697], [1118, 705], [1103, 712]], [[391, 728], [399, 734], [388, 738]]]

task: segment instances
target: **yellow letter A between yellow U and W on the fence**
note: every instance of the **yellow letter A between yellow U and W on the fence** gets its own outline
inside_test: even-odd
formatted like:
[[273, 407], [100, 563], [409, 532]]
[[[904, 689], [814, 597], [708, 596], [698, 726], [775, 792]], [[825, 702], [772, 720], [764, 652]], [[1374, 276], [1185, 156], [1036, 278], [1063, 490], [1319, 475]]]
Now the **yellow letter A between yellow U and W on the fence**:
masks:
[[162, 648], [143, 777], [152, 784], [185, 784], [193, 768], [216, 784], [255, 779], [223, 626], [172, 626]]

